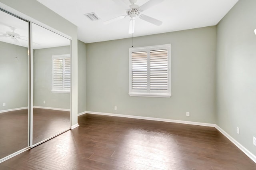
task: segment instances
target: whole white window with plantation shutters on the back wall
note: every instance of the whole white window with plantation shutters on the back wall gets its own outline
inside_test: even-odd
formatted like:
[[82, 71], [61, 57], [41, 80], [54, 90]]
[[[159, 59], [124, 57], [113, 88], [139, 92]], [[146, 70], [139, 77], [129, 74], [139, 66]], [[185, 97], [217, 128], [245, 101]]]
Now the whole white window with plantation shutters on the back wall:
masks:
[[170, 44], [130, 48], [130, 96], [170, 97]]

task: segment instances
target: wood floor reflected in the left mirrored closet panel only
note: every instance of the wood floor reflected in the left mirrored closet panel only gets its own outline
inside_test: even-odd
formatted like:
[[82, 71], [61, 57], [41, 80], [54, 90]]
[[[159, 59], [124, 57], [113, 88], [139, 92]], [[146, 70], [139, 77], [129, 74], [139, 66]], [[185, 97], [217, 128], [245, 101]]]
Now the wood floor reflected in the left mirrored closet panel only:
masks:
[[28, 146], [28, 109], [0, 113], [0, 158]]

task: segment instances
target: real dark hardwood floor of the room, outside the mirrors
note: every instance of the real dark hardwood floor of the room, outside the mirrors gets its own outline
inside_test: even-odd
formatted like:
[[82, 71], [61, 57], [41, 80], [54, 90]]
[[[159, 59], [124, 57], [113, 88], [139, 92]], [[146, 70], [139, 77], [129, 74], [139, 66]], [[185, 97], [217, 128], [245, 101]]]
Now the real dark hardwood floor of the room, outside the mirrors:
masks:
[[256, 170], [216, 128], [102, 115], [0, 164], [1, 170]]

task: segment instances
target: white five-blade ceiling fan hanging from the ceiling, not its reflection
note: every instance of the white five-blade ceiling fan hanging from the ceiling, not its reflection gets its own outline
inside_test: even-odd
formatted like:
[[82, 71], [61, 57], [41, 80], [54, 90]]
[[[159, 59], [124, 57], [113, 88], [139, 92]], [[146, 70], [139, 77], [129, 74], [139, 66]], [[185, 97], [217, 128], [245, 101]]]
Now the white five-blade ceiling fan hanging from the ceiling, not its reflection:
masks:
[[146, 16], [144, 14], [140, 14], [140, 12], [143, 12], [147, 10], [148, 8], [151, 8], [152, 6], [155, 6], [156, 4], [159, 4], [160, 2], [163, 2], [164, 0], [149, 0], [142, 6], [138, 6], [136, 4], [137, 0], [130, 0], [131, 5], [128, 6], [124, 0], [113, 0], [116, 4], [119, 6], [122, 6], [124, 9], [126, 9], [126, 15], [118, 16], [116, 18], [110, 19], [108, 21], [105, 21], [104, 24], [109, 24], [111, 22], [126, 18], [127, 16], [131, 17], [130, 24], [129, 24], [129, 34], [134, 33], [134, 26], [135, 26], [135, 19], [138, 16], [140, 19], [150, 22], [151, 24], [154, 24], [156, 26], [160, 26], [162, 24], [162, 21], [157, 20], [155, 18], [152, 18], [150, 16]]

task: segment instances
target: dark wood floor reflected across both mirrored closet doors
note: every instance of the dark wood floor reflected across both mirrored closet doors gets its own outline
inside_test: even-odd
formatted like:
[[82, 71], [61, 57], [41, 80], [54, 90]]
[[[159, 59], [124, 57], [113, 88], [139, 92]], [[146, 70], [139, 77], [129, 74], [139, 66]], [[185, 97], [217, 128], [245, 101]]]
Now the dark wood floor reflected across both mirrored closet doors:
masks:
[[[70, 112], [33, 109], [33, 144], [70, 128]], [[28, 146], [28, 109], [0, 113], [0, 159]]]

